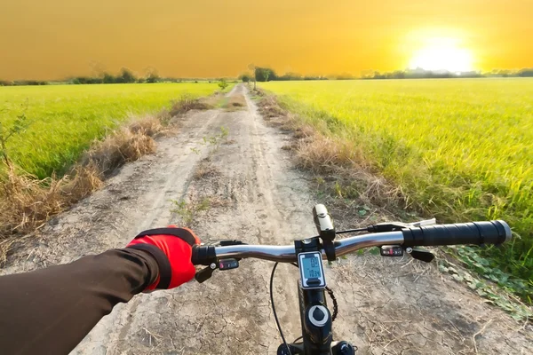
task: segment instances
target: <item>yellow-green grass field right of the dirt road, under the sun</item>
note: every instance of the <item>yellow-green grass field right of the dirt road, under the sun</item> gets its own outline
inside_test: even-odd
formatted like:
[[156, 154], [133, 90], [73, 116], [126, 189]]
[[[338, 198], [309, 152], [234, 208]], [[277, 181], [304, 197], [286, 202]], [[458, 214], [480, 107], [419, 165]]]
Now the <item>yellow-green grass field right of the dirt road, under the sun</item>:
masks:
[[520, 235], [494, 263], [533, 279], [533, 80], [271, 82], [323, 133], [362, 149], [441, 222], [505, 219]]

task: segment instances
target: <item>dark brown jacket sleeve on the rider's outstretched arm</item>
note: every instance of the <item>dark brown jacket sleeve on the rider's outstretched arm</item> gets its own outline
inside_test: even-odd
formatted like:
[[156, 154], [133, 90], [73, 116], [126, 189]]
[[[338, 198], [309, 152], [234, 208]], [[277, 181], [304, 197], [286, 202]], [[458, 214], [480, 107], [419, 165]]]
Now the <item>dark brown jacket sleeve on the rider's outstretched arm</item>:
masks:
[[126, 248], [0, 277], [0, 352], [68, 354], [115, 304], [130, 301], [157, 273], [146, 251]]

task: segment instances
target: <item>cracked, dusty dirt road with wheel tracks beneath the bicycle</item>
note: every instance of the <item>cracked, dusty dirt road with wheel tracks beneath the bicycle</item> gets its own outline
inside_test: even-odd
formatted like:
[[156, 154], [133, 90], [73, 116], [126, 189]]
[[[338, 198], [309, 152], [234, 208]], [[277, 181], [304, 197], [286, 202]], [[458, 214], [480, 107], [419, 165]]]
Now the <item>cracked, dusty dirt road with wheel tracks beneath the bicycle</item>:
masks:
[[[282, 150], [242, 85], [243, 110], [188, 114], [155, 155], [123, 167], [106, 187], [54, 219], [4, 272], [67, 263], [121, 248], [142, 230], [190, 222], [203, 241], [287, 244], [314, 234], [313, 180]], [[183, 201], [175, 204], [174, 201]], [[177, 211], [171, 212], [171, 209]], [[203, 284], [135, 296], [102, 319], [74, 354], [275, 353], [268, 299], [271, 264], [243, 261]], [[281, 266], [275, 300], [285, 335], [299, 336], [297, 275]], [[337, 339], [360, 354], [533, 353], [529, 326], [510, 319], [433, 265], [353, 256], [327, 268], [338, 298]], [[475, 342], [475, 343], [474, 343]]]

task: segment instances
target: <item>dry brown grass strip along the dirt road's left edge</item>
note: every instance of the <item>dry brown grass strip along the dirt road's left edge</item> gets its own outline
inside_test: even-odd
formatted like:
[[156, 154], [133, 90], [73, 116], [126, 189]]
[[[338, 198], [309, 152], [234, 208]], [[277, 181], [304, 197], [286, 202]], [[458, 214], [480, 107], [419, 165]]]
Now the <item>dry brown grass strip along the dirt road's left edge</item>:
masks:
[[52, 216], [103, 185], [103, 180], [126, 162], [155, 153], [155, 137], [170, 129], [167, 114], [146, 116], [94, 141], [80, 162], [64, 177], [37, 177], [2, 162], [0, 167], [0, 264], [22, 236], [35, 232]]

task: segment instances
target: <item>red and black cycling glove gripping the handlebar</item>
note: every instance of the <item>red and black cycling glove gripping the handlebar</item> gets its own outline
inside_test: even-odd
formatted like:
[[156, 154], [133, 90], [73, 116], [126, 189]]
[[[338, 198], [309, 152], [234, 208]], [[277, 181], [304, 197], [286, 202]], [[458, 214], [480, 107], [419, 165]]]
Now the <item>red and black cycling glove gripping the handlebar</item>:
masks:
[[188, 228], [151, 229], [140, 233], [126, 248], [147, 251], [154, 256], [159, 266], [159, 275], [145, 291], [177, 288], [195, 277], [195, 266], [191, 262], [193, 246], [200, 244], [198, 237]]

